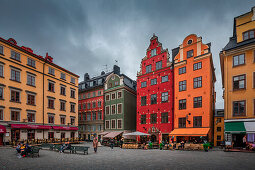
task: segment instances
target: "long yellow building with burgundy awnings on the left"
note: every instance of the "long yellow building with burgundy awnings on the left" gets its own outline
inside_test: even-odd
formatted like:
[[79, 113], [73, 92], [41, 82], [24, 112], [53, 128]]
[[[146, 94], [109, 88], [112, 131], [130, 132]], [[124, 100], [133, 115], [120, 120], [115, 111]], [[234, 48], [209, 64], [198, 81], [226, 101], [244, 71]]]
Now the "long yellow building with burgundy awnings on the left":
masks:
[[0, 38], [0, 145], [78, 136], [79, 76], [52, 60]]

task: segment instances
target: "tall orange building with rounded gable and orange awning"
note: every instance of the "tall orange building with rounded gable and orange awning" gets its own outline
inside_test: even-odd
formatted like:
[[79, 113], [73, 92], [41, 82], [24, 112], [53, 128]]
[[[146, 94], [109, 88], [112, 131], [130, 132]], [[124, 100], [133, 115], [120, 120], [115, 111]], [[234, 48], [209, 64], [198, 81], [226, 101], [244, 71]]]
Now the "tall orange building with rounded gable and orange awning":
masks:
[[174, 141], [213, 139], [216, 81], [210, 43], [195, 34], [172, 50], [174, 62]]

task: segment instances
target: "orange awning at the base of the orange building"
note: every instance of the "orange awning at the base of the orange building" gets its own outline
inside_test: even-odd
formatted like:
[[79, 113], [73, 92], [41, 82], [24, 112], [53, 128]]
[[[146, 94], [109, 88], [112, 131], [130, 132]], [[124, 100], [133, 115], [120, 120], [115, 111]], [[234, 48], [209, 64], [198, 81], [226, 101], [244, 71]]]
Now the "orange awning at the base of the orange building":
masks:
[[210, 128], [181, 128], [174, 129], [171, 136], [207, 136]]

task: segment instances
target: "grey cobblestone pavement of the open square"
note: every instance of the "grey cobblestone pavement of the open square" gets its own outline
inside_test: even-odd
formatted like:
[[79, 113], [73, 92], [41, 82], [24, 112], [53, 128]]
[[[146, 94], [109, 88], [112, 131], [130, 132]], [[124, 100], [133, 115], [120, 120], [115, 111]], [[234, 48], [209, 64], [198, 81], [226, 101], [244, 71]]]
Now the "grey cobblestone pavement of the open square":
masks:
[[0, 169], [254, 169], [254, 153], [223, 151], [131, 150], [99, 147], [89, 155], [41, 150], [39, 158], [17, 157], [15, 149], [0, 148]]

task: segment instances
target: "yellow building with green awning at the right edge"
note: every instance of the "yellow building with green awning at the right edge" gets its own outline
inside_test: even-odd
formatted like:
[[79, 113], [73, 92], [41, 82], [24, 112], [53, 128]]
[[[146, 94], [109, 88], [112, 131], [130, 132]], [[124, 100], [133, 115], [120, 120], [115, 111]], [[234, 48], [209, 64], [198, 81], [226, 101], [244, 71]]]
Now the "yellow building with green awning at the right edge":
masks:
[[244, 141], [255, 141], [255, 7], [234, 18], [220, 64], [226, 144], [244, 147]]

